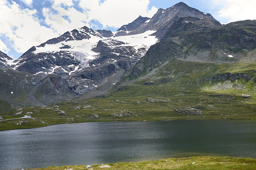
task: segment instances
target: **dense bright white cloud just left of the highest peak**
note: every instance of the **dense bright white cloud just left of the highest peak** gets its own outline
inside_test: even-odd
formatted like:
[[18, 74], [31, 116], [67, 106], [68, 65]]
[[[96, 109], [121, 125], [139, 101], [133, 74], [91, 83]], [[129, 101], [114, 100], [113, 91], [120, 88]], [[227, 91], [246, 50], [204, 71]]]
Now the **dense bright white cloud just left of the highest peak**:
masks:
[[148, 9], [149, 0], [83, 0], [80, 6], [87, 11], [88, 21], [98, 20], [103, 27], [111, 26], [119, 28], [124, 24], [132, 22], [140, 15], [153, 17], [157, 8]]

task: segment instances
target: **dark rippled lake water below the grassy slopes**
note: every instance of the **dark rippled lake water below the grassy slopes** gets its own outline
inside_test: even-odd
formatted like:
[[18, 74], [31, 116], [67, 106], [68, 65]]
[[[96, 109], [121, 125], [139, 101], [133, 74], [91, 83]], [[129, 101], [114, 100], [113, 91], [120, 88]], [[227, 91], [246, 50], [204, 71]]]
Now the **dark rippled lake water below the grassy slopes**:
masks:
[[256, 158], [256, 121], [95, 122], [0, 131], [0, 169], [199, 155]]

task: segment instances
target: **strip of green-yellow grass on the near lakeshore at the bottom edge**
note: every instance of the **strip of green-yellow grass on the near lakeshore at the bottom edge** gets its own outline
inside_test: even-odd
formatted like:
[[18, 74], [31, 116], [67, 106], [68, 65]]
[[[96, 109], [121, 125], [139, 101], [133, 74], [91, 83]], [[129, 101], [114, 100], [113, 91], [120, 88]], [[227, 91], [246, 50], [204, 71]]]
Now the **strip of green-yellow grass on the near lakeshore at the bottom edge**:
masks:
[[[126, 170], [126, 169], [204, 169], [204, 170], [225, 170], [225, 169], [239, 169], [239, 170], [254, 170], [256, 169], [256, 159], [252, 158], [232, 158], [232, 157], [209, 157], [199, 156], [190, 158], [170, 158], [170, 159], [159, 159], [154, 161], [142, 161], [142, 162], [124, 162], [116, 164], [104, 164], [111, 166], [110, 168], [100, 168], [101, 165], [92, 165], [94, 170], [106, 169], [106, 170]], [[78, 166], [50, 166], [47, 168], [39, 168], [33, 170], [64, 170], [72, 168], [73, 170], [86, 169], [86, 165]]]

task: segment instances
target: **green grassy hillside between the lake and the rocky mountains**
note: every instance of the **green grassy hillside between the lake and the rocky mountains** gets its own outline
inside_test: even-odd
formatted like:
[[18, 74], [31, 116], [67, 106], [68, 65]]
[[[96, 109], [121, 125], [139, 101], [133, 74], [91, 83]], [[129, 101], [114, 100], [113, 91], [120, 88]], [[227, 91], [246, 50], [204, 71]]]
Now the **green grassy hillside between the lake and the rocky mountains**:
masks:
[[138, 78], [125, 77], [106, 96], [0, 113], [4, 119], [33, 118], [2, 121], [0, 130], [95, 121], [256, 119], [255, 70], [256, 62], [167, 60]]

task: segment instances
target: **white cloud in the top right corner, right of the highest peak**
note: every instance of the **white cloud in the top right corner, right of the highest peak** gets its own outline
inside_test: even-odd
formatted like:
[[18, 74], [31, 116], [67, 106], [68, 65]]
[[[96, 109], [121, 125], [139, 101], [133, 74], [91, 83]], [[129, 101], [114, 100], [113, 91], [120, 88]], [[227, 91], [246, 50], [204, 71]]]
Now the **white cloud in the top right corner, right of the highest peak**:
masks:
[[217, 0], [214, 3], [222, 5], [219, 16], [228, 18], [228, 22], [256, 19], [255, 0]]

